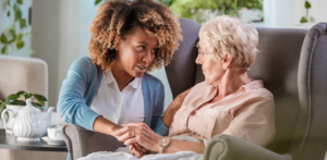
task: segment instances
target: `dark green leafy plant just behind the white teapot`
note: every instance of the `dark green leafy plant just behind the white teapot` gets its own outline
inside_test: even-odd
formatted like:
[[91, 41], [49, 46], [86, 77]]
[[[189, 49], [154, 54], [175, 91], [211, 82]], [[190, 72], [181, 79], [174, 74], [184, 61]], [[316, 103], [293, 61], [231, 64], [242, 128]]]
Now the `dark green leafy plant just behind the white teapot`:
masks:
[[[21, 97], [23, 97], [23, 98], [21, 98]], [[45, 102], [48, 101], [48, 99], [45, 96], [21, 90], [16, 94], [12, 94], [12, 95], [8, 96], [7, 99], [4, 99], [4, 100], [0, 100], [0, 121], [2, 120], [1, 113], [5, 108], [10, 108], [14, 112], [17, 112], [22, 107], [26, 106], [26, 100], [28, 98], [32, 99], [32, 104], [35, 108], [45, 110]], [[21, 100], [21, 99], [25, 99], [25, 100]], [[12, 122], [9, 120], [8, 124], [11, 125]], [[5, 131], [5, 132], [9, 133], [8, 131]]]

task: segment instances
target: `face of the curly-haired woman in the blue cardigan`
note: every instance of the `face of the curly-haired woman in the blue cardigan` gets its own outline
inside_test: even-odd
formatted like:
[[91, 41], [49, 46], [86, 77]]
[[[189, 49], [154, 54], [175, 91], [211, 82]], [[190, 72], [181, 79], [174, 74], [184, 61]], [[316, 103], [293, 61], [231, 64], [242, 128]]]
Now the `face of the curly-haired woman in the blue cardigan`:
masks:
[[132, 34], [125, 35], [125, 39], [122, 39], [116, 48], [118, 50], [117, 66], [131, 76], [143, 76], [155, 60], [157, 45], [157, 38], [149, 37], [141, 27], [137, 27]]

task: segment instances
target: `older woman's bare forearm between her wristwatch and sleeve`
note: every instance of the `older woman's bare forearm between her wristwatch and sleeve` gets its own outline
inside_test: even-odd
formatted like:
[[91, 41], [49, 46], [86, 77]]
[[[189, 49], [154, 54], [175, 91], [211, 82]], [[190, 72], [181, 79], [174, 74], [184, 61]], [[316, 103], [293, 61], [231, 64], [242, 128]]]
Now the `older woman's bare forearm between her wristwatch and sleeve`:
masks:
[[174, 153], [179, 151], [194, 151], [204, 153], [205, 145], [203, 143], [183, 141], [170, 139], [169, 146], [164, 148], [164, 153]]

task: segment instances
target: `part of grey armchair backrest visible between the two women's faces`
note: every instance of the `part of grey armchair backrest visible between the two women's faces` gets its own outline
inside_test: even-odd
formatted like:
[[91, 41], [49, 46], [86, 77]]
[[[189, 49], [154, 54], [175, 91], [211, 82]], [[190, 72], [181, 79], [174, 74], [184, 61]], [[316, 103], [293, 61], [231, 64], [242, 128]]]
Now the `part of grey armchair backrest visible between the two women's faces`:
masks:
[[201, 25], [189, 19], [180, 19], [179, 22], [183, 40], [180, 41], [171, 63], [165, 67], [173, 99], [194, 84], [203, 81], [203, 75], [197, 73], [197, 64], [195, 63], [196, 42], [198, 41]]

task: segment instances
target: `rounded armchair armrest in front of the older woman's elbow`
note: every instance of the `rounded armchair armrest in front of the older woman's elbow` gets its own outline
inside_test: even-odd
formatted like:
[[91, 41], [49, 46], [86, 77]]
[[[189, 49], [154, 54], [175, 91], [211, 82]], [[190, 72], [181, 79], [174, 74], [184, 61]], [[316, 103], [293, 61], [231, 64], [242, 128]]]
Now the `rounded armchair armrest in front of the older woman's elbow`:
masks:
[[290, 155], [279, 155], [231, 135], [216, 135], [208, 140], [205, 160], [292, 160]]

